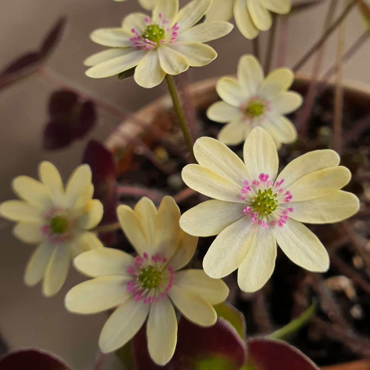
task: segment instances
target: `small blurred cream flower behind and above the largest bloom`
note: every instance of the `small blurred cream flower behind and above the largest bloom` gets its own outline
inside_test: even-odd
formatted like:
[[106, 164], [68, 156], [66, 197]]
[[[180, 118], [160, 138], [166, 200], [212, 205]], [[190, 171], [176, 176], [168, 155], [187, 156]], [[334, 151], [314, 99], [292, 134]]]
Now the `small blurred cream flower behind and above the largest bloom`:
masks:
[[243, 142], [251, 130], [261, 126], [268, 131], [277, 147], [297, 139], [297, 130], [284, 114], [295, 111], [302, 97], [287, 91], [294, 80], [288, 68], [278, 68], [266, 78], [253, 55], [243, 55], [238, 64], [238, 78], [223, 77], [216, 90], [223, 101], [212, 104], [207, 117], [216, 122], [228, 122], [218, 139], [227, 145]]

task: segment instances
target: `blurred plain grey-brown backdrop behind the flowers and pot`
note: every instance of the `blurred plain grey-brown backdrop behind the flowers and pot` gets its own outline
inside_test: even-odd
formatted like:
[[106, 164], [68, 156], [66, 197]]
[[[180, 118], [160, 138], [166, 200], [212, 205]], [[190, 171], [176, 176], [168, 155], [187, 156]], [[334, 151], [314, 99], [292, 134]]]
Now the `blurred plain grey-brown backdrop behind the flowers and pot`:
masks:
[[[285, 63], [288, 67], [294, 65], [320, 36], [327, 7], [328, 1], [322, 1], [290, 17]], [[139, 9], [136, 0], [122, 3], [112, 0], [0, 0], [0, 70], [20, 54], [37, 48], [57, 18], [65, 15], [67, 31], [47, 63], [48, 68], [65, 79], [64, 85], [70, 82], [73, 87], [81, 87], [93, 96], [135, 112], [166, 94], [165, 84], [146, 90], [136, 85], [132, 78], [93, 80], [84, 75], [82, 61], [102, 50], [89, 40], [92, 30], [118, 26], [126, 14]], [[341, 9], [339, 1], [337, 12]], [[346, 46], [363, 32], [363, 21], [355, 7], [346, 23]], [[262, 52], [266, 36], [262, 33]], [[252, 51], [251, 41], [242, 37], [237, 28], [210, 44], [218, 52], [218, 58], [205, 67], [191, 68], [191, 81], [235, 73], [239, 56]], [[335, 53], [336, 33], [327, 43], [323, 71], [335, 63]], [[370, 42], [345, 64], [343, 73], [346, 83], [370, 92], [369, 57]], [[312, 60], [298, 75], [308, 76], [311, 69]], [[36, 177], [37, 164], [43, 159], [52, 161], [66, 179], [80, 164], [87, 139], [103, 141], [109, 135], [109, 131], [98, 127], [86, 140], [77, 141], [67, 149], [43, 151], [47, 100], [56, 88], [35, 75], [0, 94], [0, 201], [14, 198], [10, 188], [12, 178], [20, 174]], [[118, 125], [120, 122], [112, 123]], [[14, 239], [11, 227], [10, 222], [0, 220], [0, 336], [9, 349], [40, 347], [62, 357], [74, 369], [92, 369], [99, 353], [98, 336], [106, 314], [79, 316], [65, 310], [65, 293], [84, 280], [73, 270], [60, 293], [51, 299], [42, 297], [40, 286], [32, 289], [24, 286], [23, 270], [33, 246]]]

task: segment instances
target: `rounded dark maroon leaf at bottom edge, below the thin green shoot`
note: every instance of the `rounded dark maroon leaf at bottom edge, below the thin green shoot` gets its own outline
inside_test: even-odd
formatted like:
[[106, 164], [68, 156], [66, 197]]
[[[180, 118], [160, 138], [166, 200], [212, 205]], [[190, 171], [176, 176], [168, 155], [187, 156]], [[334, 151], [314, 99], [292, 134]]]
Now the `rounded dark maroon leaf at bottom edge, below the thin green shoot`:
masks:
[[280, 340], [251, 339], [247, 351], [255, 370], [319, 370], [301, 351]]

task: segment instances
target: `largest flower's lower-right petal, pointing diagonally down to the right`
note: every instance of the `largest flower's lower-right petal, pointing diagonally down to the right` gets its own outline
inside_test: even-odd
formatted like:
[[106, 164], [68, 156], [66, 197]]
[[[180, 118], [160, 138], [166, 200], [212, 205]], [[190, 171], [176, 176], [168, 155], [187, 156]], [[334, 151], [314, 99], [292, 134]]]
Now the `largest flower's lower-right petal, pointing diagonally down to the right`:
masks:
[[274, 235], [280, 248], [296, 265], [313, 272], [328, 270], [328, 252], [302, 223], [289, 219], [282, 228], [274, 228]]

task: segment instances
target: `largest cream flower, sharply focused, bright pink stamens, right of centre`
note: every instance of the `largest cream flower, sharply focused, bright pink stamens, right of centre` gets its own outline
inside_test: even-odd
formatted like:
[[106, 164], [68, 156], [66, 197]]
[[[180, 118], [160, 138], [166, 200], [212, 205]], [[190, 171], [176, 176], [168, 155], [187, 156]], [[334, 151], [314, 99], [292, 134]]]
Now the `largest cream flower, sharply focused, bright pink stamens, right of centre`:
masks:
[[359, 199], [340, 190], [351, 178], [330, 149], [295, 158], [277, 175], [278, 155], [271, 136], [252, 130], [243, 161], [225, 144], [202, 137], [195, 142], [199, 162], [185, 166], [182, 178], [192, 189], [214, 200], [185, 212], [181, 228], [198, 236], [217, 235], [203, 260], [211, 277], [238, 268], [239, 287], [260, 289], [270, 278], [276, 243], [298, 266], [324, 272], [326, 249], [304, 223], [332, 223], [356, 213]]

